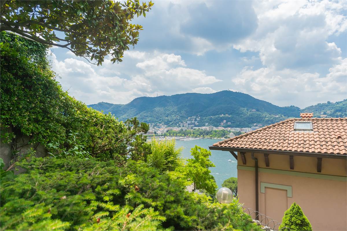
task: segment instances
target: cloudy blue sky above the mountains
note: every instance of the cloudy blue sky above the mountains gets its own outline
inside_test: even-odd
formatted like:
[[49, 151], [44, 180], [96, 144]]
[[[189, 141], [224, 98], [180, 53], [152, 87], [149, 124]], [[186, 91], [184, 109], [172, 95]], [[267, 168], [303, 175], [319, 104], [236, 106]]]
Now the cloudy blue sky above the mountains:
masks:
[[232, 90], [304, 108], [347, 98], [347, 1], [155, 1], [123, 62], [50, 59], [86, 104]]

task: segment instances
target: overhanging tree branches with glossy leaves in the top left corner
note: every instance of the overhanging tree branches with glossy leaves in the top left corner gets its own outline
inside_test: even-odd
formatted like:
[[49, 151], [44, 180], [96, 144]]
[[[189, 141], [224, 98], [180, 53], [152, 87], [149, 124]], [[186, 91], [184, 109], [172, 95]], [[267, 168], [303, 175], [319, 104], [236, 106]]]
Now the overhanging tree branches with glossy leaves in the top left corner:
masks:
[[[121, 62], [135, 46], [142, 26], [134, 16], [146, 16], [153, 3], [128, 0], [124, 4], [100, 1], [1, 1], [1, 31], [12, 31], [45, 45], [69, 49], [77, 56], [102, 64], [106, 55]], [[55, 32], [64, 33], [63, 36]]]

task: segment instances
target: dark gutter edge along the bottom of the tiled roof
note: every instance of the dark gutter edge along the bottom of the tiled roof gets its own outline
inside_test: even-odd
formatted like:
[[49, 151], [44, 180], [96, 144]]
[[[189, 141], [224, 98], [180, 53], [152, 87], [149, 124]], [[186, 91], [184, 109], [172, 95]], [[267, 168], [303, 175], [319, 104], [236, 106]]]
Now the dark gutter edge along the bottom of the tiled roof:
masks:
[[236, 152], [262, 152], [268, 154], [288, 155], [288, 156], [302, 156], [302, 157], [317, 157], [317, 158], [330, 158], [330, 159], [347, 159], [345, 154], [328, 154], [316, 152], [294, 152], [294, 151], [280, 151], [280, 150], [267, 150], [267, 149], [249, 149], [249, 148], [230, 148], [209, 146], [210, 150], [220, 151], [236, 151]]

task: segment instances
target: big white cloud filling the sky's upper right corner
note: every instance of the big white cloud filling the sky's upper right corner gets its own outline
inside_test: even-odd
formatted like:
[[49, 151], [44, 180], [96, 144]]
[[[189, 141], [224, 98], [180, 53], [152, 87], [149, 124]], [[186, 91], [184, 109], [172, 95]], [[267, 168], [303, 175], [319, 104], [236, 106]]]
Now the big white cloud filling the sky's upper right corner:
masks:
[[259, 52], [262, 64], [278, 70], [332, 65], [341, 56], [329, 35], [346, 32], [346, 2], [256, 1], [256, 32], [233, 47]]

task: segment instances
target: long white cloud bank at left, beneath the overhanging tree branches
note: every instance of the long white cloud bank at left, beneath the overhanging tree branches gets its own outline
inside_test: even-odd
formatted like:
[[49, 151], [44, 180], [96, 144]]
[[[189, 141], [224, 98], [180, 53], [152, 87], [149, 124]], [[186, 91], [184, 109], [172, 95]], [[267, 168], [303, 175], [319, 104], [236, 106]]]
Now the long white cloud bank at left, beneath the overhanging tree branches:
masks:
[[51, 56], [63, 89], [87, 104], [125, 104], [140, 96], [172, 95], [192, 89], [215, 92], [205, 86], [221, 81], [204, 71], [187, 68], [180, 55], [128, 51], [125, 59], [127, 62], [120, 64], [105, 59], [97, 67], [77, 57], [58, 61], [54, 54]]

